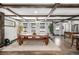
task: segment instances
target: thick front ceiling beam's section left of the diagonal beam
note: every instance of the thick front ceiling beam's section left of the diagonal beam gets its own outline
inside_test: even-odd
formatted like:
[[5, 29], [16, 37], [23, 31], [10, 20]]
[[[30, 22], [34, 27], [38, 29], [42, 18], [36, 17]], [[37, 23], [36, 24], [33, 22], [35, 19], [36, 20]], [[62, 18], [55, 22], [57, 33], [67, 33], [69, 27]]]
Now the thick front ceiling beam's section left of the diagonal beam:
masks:
[[26, 8], [52, 8], [54, 4], [4, 4], [1, 3], [0, 5], [4, 7], [12, 7], [12, 8], [21, 8], [21, 7], [26, 7]]

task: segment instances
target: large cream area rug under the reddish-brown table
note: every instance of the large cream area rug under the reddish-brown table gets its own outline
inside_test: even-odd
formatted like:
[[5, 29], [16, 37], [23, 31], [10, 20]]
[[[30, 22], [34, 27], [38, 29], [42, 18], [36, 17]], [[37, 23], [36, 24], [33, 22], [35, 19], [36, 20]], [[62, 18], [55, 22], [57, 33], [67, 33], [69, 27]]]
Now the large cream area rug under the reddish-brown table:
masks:
[[0, 51], [61, 51], [61, 49], [51, 40], [49, 40], [48, 45], [45, 45], [40, 40], [28, 40], [21, 46], [17, 42], [14, 42], [9, 46], [1, 48]]

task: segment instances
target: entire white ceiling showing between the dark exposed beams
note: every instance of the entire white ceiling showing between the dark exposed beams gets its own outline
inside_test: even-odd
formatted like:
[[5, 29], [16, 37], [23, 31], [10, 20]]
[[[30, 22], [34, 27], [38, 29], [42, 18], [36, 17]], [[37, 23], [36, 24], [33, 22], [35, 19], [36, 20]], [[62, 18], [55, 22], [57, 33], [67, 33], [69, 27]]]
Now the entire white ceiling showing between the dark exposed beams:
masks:
[[[19, 15], [48, 15], [51, 8], [9, 8]], [[37, 11], [35, 13], [35, 11]], [[4, 12], [5, 15], [15, 15], [12, 12], [0, 8], [0, 12]], [[56, 8], [52, 15], [79, 15], [79, 8]], [[13, 17], [15, 19], [21, 19], [20, 17]], [[23, 17], [24, 19], [36, 19], [36, 17]], [[45, 19], [46, 17], [38, 17], [38, 19]], [[47, 19], [67, 19], [69, 17], [49, 17]], [[79, 17], [73, 18], [79, 19]]]

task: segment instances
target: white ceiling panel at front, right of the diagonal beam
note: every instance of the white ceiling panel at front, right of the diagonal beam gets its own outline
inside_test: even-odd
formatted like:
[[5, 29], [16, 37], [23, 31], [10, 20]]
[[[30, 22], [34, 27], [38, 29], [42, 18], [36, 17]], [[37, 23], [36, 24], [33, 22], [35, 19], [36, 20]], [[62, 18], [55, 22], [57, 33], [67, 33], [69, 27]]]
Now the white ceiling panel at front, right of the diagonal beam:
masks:
[[52, 15], [79, 15], [79, 8], [57, 8]]

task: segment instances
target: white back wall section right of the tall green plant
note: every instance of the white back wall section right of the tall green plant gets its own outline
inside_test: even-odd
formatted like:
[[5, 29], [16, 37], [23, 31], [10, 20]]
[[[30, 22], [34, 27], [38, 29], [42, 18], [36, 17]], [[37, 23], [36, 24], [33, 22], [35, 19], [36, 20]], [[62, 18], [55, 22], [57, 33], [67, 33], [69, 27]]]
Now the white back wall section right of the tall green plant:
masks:
[[[59, 30], [56, 30], [57, 27], [59, 27]], [[54, 23], [54, 34], [55, 35], [64, 35], [65, 31], [71, 32], [71, 21]]]

